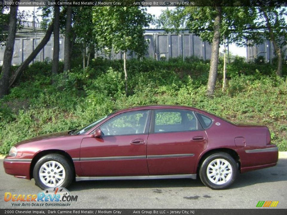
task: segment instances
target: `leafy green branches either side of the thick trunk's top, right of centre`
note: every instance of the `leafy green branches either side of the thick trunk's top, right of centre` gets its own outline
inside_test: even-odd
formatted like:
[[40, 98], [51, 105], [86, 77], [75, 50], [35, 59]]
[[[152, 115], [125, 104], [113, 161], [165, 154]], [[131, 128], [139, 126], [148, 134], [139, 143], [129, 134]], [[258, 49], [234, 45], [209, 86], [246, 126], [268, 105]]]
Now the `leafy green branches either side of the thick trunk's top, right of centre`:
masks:
[[[210, 1], [209, 5], [216, 4]], [[257, 17], [255, 7], [234, 7], [230, 1], [225, 5], [232, 7], [221, 7], [220, 34], [221, 42], [227, 39], [230, 43], [236, 42], [240, 45], [248, 38], [248, 29]], [[240, 5], [238, 5], [240, 6]], [[189, 30], [191, 33], [200, 36], [204, 41], [212, 42], [214, 34], [214, 21], [218, 13], [216, 7], [176, 7], [173, 10], [162, 11], [158, 18], [158, 27], [164, 28], [167, 32], [179, 33], [182, 30]]]

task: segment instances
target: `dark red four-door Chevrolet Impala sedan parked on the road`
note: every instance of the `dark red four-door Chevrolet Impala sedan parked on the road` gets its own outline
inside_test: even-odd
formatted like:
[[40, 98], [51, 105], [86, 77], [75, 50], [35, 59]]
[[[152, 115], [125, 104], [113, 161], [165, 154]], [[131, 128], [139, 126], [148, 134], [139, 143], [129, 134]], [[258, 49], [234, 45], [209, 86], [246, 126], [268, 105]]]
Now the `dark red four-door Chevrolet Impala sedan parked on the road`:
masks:
[[4, 159], [6, 173], [40, 188], [79, 180], [200, 176], [212, 189], [239, 173], [275, 166], [278, 148], [264, 126], [236, 125], [185, 106], [113, 112], [79, 130], [24, 140]]

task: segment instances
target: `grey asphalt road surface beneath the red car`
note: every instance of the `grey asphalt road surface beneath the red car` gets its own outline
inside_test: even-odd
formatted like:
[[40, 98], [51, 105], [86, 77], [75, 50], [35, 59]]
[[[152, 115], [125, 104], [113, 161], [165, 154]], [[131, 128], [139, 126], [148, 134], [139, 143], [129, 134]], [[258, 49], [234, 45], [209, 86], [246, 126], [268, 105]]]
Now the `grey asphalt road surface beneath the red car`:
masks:
[[[0, 208], [45, 208], [12, 207], [11, 201], [4, 202], [5, 192], [27, 195], [41, 189], [33, 179], [7, 175], [2, 164], [0, 176]], [[221, 191], [205, 187], [199, 179], [86, 181], [75, 182], [68, 190], [78, 195], [69, 209], [256, 208], [258, 201], [279, 201], [277, 208], [287, 208], [287, 159], [280, 159], [275, 167], [240, 174], [231, 188]]]

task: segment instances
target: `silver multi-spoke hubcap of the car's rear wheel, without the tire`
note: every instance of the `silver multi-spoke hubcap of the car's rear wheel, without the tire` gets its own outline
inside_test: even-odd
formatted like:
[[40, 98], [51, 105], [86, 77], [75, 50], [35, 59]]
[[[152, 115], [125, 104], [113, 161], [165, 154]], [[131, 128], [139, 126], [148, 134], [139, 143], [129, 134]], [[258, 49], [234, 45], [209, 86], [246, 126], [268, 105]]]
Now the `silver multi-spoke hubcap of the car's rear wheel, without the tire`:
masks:
[[222, 185], [230, 180], [232, 176], [232, 167], [227, 160], [219, 158], [209, 163], [206, 173], [210, 182]]

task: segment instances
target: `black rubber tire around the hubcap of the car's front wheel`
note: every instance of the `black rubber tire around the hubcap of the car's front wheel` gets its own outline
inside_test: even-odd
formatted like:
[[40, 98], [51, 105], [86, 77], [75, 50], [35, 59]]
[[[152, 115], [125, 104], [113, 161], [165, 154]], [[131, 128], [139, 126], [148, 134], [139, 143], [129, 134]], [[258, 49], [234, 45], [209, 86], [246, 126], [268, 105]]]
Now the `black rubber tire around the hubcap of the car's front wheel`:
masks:
[[[50, 186], [45, 185], [40, 179], [40, 174], [39, 174], [40, 168], [42, 167], [42, 165], [44, 165], [46, 162], [49, 162], [49, 161], [58, 162], [60, 165], [62, 165], [62, 167], [65, 170], [65, 177], [59, 185], [56, 185], [56, 186], [51, 186], [52, 184], [49, 184]], [[57, 173], [55, 173], [55, 174], [57, 174]], [[39, 188], [42, 188], [44, 190], [44, 189], [47, 189], [49, 187], [64, 187], [64, 188], [68, 187], [73, 182], [73, 180], [75, 179], [75, 173], [74, 173], [73, 165], [65, 156], [60, 155], [60, 154], [48, 154], [48, 155], [41, 157], [37, 161], [37, 163], [33, 169], [33, 177], [35, 179], [35, 184]]]

